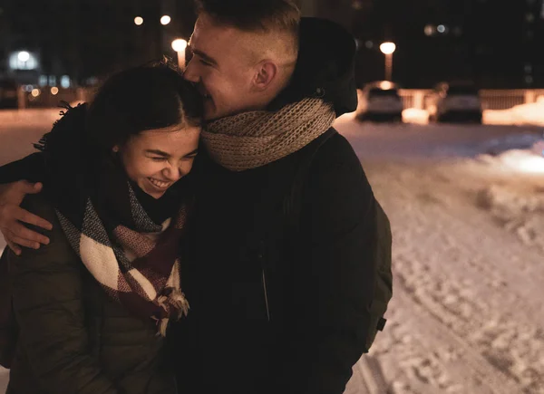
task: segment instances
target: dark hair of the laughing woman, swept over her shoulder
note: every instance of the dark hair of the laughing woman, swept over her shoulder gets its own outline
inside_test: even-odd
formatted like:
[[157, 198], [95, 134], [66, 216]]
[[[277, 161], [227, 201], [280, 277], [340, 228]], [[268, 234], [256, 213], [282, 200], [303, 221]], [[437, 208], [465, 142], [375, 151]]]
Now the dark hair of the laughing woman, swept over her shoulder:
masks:
[[34, 145], [44, 151], [52, 171], [108, 161], [114, 146], [144, 130], [200, 126], [204, 112], [197, 89], [168, 61], [117, 72], [91, 103], [64, 108], [63, 117]]

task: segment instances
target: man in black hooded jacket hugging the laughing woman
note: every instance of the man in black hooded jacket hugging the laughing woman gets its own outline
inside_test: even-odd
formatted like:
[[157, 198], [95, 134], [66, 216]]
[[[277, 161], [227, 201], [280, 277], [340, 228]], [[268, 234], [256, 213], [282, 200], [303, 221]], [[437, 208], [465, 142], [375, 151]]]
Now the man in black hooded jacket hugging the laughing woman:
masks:
[[[354, 40], [300, 22], [289, 0], [198, 12], [185, 76], [209, 128], [181, 278], [191, 310], [167, 336], [180, 393], [341, 393], [375, 332], [375, 260], [391, 248], [360, 161], [331, 127], [355, 111]], [[3, 193], [10, 246], [44, 241], [15, 224], [40, 225], [16, 207], [23, 187]]]

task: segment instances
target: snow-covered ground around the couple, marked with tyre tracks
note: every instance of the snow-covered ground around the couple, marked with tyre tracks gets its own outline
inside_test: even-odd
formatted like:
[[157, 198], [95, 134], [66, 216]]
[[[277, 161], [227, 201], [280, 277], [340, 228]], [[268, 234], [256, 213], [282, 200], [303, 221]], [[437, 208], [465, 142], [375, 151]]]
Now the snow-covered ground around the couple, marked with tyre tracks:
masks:
[[[4, 116], [0, 164], [54, 118]], [[335, 126], [391, 219], [394, 284], [345, 392], [544, 393], [544, 159], [529, 151], [541, 130], [353, 118]]]

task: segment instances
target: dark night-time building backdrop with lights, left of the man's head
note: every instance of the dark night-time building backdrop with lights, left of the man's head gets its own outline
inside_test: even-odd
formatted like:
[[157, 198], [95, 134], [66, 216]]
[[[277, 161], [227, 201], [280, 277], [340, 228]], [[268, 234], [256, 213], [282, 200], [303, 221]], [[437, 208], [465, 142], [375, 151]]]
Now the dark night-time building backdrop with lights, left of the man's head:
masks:
[[92, 84], [115, 70], [173, 57], [171, 38], [187, 35], [193, 21], [189, 0], [7, 0], [0, 5], [0, 78]]

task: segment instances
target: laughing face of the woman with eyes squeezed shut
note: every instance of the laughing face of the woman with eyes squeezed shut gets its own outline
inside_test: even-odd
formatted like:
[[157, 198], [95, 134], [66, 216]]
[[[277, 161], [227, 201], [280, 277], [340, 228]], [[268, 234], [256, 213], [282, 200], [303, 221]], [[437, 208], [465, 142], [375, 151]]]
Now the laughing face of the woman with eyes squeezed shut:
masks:
[[129, 178], [147, 194], [160, 198], [187, 175], [199, 148], [199, 127], [145, 130], [115, 146]]

